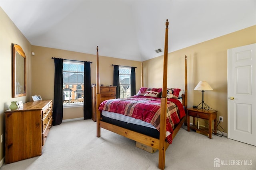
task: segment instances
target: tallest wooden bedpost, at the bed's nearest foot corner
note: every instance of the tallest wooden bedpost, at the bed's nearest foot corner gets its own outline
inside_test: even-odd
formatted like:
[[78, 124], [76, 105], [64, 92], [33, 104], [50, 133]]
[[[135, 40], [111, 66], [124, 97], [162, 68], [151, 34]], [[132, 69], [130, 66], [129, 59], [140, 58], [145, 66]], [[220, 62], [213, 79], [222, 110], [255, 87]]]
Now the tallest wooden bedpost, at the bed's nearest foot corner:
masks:
[[165, 164], [165, 138], [166, 138], [166, 107], [167, 107], [167, 66], [168, 66], [168, 25], [169, 22], [166, 20], [165, 28], [165, 41], [164, 41], [164, 73], [163, 73], [163, 87], [162, 87], [162, 98], [161, 98], [161, 113], [160, 113], [160, 137], [159, 137], [159, 160], [158, 168], [164, 169]]

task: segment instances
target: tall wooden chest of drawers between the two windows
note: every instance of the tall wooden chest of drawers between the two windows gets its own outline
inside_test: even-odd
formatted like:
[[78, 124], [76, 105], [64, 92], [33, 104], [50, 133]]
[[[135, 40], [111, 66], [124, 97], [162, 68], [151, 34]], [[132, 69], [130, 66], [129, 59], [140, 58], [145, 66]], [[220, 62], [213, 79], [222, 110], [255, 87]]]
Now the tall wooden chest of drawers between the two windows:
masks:
[[[116, 86], [100, 87], [100, 103], [116, 98]], [[96, 121], [96, 87], [92, 87], [92, 120]]]

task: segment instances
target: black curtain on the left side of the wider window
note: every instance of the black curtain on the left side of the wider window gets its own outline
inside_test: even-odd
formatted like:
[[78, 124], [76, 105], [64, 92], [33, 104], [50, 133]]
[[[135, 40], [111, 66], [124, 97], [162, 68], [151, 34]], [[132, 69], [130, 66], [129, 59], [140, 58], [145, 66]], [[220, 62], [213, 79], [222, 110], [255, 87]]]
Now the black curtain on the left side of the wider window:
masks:
[[54, 104], [52, 125], [60, 125], [63, 119], [63, 59], [54, 58]]

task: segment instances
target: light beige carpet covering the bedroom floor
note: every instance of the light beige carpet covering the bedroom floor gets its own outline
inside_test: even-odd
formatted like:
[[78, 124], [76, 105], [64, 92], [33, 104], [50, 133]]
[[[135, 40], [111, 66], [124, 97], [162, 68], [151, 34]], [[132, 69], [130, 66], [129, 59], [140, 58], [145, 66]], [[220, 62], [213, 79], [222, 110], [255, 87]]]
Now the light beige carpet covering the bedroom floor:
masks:
[[[4, 164], [0, 170], [157, 170], [158, 151], [151, 154], [135, 145], [104, 129], [97, 138], [92, 120], [65, 122], [52, 127], [41, 156]], [[214, 158], [220, 167], [214, 167]], [[216, 135], [209, 139], [184, 126], [166, 150], [165, 169], [255, 170], [256, 147]]]

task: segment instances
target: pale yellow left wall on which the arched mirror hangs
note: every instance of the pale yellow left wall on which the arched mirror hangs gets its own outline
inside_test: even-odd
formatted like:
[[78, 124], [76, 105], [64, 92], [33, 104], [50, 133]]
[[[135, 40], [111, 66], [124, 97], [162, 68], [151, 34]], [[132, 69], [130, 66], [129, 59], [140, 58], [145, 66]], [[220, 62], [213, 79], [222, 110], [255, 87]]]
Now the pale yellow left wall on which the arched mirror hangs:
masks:
[[[22, 47], [27, 59], [26, 96], [12, 98], [12, 43]], [[31, 45], [6, 13], [0, 8], [0, 135], [4, 133], [4, 111], [9, 109], [11, 101], [26, 103], [31, 98]], [[0, 143], [0, 166], [3, 164], [4, 142]]]

